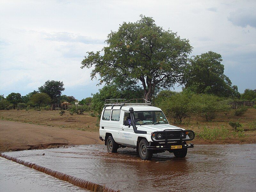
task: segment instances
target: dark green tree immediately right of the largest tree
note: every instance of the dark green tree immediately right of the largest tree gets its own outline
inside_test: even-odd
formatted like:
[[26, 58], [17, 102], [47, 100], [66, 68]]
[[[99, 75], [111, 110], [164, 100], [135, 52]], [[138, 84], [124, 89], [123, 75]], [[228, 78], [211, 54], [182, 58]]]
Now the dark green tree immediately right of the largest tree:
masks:
[[221, 61], [221, 55], [212, 51], [190, 59], [187, 73], [183, 76], [186, 89], [199, 94], [240, 98], [237, 86], [231, 86], [230, 79], [224, 75]]

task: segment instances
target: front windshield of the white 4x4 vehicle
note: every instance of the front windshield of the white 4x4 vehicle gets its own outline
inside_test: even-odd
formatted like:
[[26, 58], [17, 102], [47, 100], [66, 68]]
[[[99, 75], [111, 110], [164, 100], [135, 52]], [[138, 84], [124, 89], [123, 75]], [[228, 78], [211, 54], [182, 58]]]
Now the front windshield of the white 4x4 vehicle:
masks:
[[134, 111], [136, 125], [142, 124], [168, 124], [162, 111]]

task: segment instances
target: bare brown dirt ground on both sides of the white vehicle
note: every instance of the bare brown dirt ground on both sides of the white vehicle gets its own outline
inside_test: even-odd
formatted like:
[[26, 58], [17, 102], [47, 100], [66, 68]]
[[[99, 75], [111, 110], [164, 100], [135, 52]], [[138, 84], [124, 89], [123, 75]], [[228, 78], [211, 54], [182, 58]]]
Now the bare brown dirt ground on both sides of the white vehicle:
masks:
[[[201, 117], [190, 117], [182, 124], [176, 126], [193, 130], [196, 138], [195, 144], [208, 143], [256, 143], [256, 130], [251, 130], [250, 125], [256, 123], [256, 109], [249, 108], [243, 116], [217, 114], [217, 117], [206, 122]], [[97, 117], [90, 113], [84, 115], [70, 115], [68, 111], [60, 116], [59, 111], [25, 111], [25, 110], [0, 110], [0, 151], [23, 150], [33, 148], [48, 148], [60, 145], [84, 145], [102, 143], [99, 140], [99, 128], [96, 126]], [[234, 131], [229, 121], [239, 121], [245, 130], [244, 137], [232, 135]], [[198, 134], [204, 127], [223, 128], [229, 130], [230, 137], [225, 139], [203, 140]]]

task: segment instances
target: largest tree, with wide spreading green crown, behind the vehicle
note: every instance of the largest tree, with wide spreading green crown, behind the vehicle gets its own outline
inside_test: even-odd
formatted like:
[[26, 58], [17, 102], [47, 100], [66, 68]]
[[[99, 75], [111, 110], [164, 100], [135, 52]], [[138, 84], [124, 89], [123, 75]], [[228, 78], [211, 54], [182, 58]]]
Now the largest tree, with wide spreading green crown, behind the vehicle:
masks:
[[93, 66], [91, 77], [100, 75], [100, 84], [116, 79], [141, 82], [144, 98], [151, 100], [157, 88], [169, 89], [180, 82], [192, 47], [189, 40], [157, 26], [151, 17], [140, 17], [111, 31], [104, 53], [87, 52], [81, 68]]

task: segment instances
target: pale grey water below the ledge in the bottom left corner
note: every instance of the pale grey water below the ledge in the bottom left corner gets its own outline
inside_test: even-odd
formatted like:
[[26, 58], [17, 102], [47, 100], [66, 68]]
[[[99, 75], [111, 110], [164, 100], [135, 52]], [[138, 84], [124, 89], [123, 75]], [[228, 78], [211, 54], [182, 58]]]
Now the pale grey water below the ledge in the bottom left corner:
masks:
[[86, 192], [67, 181], [30, 169], [0, 157], [0, 191], [8, 192]]

